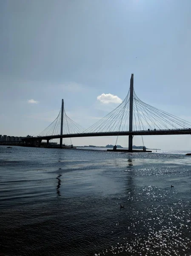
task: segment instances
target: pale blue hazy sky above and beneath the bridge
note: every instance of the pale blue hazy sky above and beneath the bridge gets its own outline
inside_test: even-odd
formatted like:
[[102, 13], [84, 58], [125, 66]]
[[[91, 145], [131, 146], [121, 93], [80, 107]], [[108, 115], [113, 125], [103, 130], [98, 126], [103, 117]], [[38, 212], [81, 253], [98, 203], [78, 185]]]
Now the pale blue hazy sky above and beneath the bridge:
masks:
[[[0, 0], [0, 134], [40, 134], [62, 99], [67, 115], [88, 128], [125, 99], [131, 73], [143, 102], [191, 122], [190, 13], [190, 0]], [[143, 140], [191, 150], [191, 135]], [[128, 137], [117, 143], [127, 146]], [[143, 145], [141, 137], [133, 144]]]

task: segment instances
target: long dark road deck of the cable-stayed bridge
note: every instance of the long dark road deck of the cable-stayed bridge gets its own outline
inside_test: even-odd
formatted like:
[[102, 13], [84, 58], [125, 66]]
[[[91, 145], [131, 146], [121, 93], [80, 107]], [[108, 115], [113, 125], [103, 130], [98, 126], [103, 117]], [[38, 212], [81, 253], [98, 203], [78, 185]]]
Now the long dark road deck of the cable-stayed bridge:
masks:
[[37, 140], [52, 140], [60, 138], [75, 138], [75, 137], [98, 137], [98, 136], [128, 136], [128, 135], [182, 135], [191, 134], [191, 129], [178, 130], [156, 130], [156, 131], [115, 131], [115, 132], [96, 132], [96, 133], [81, 133], [81, 134], [63, 134], [42, 137], [23, 138], [23, 141], [37, 141]]

